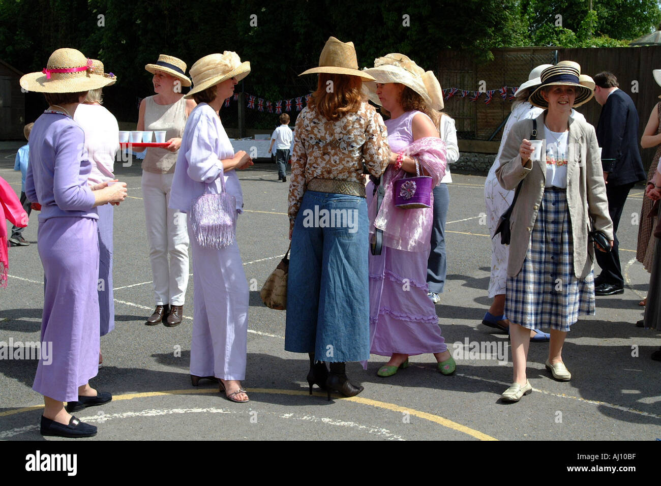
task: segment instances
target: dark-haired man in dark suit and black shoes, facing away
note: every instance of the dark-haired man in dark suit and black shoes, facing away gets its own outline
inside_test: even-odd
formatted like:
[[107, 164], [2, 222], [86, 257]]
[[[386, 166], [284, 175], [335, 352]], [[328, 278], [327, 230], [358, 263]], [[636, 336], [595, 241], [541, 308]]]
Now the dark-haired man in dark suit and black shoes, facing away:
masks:
[[594, 99], [602, 105], [597, 124], [597, 140], [602, 147], [603, 179], [606, 182], [608, 211], [613, 220], [614, 245], [609, 253], [596, 251], [602, 273], [595, 279], [598, 296], [623, 294], [624, 278], [619, 261], [617, 226], [629, 190], [645, 179], [638, 149], [638, 112], [631, 97], [618, 88], [613, 73], [603, 71], [594, 76]]

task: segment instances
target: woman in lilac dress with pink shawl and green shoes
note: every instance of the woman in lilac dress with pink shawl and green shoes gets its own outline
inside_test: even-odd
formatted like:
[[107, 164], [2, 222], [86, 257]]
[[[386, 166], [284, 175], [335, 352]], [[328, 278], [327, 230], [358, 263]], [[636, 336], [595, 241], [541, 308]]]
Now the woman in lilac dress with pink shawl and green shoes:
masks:
[[418, 164], [432, 177], [432, 187], [445, 173], [446, 147], [436, 130], [437, 110], [443, 108], [441, 87], [434, 73], [425, 72], [403, 54], [379, 58], [366, 72], [376, 79], [376, 83], [366, 83], [371, 99], [391, 116], [385, 122], [390, 165], [381, 181], [385, 196], [378, 210], [376, 198], [369, 197], [373, 183], [367, 187], [370, 232], [383, 231], [381, 255], [369, 258], [370, 352], [390, 356], [379, 376], [392, 376], [408, 366], [408, 356], [428, 352], [434, 354], [438, 370], [450, 375], [457, 366], [427, 296], [433, 210], [397, 208], [393, 194], [395, 181], [415, 174]]

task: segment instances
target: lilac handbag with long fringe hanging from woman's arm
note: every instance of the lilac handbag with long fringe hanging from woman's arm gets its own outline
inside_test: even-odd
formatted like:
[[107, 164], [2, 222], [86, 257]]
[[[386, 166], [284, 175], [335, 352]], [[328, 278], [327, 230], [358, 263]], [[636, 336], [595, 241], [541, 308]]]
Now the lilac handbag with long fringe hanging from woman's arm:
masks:
[[225, 248], [232, 244], [237, 229], [237, 200], [225, 191], [225, 177], [220, 175], [220, 194], [204, 194], [190, 207], [190, 225], [198, 245], [206, 248]]

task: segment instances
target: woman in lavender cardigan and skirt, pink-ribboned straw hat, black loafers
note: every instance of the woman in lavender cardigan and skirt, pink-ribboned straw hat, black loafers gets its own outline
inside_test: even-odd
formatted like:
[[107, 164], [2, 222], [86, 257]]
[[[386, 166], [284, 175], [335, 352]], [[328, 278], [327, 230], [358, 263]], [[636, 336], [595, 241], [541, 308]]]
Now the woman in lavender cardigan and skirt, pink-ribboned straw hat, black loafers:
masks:
[[[73, 114], [89, 89], [110, 80], [90, 73], [91, 61], [75, 49], [58, 49], [46, 69], [26, 74], [20, 85], [44, 93], [50, 104], [32, 128], [26, 195], [42, 206], [38, 249], [44, 266], [42, 355], [32, 388], [44, 395], [41, 433], [89, 437], [97, 427], [69, 415], [112, 399], [89, 380], [98, 372], [98, 236], [96, 206], [118, 203], [126, 184], [90, 187], [91, 163], [83, 129]], [[66, 409], [63, 402], [67, 402]]]

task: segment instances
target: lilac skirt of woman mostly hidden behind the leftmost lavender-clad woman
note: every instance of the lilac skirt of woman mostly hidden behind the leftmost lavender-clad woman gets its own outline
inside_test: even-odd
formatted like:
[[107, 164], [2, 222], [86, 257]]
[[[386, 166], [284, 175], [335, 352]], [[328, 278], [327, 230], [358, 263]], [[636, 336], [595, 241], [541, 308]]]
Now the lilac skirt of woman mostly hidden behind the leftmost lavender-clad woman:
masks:
[[112, 292], [112, 223], [114, 206], [98, 206], [98, 310], [100, 334], [115, 329], [115, 301]]

